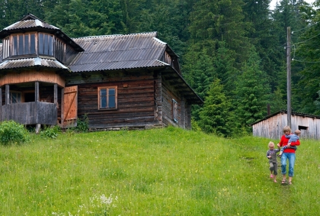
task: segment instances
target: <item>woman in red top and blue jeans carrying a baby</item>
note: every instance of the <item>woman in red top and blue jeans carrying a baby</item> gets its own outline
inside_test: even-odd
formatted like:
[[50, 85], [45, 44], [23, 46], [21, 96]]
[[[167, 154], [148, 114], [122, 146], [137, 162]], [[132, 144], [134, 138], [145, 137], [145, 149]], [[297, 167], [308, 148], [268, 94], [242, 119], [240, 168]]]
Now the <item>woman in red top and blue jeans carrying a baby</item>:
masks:
[[[283, 127], [283, 133], [285, 135], [291, 134], [291, 128], [289, 126]], [[278, 147], [282, 147], [288, 144], [289, 138], [286, 138], [285, 135], [281, 136], [280, 142], [277, 144]], [[291, 142], [291, 146], [300, 145], [300, 141], [297, 140], [296, 142]], [[281, 156], [281, 172], [282, 172], [282, 181], [281, 183], [284, 184], [286, 182], [286, 159], [289, 161], [289, 184], [292, 184], [292, 176], [293, 176], [293, 167], [295, 161], [295, 149], [288, 148], [284, 149], [282, 156]]]

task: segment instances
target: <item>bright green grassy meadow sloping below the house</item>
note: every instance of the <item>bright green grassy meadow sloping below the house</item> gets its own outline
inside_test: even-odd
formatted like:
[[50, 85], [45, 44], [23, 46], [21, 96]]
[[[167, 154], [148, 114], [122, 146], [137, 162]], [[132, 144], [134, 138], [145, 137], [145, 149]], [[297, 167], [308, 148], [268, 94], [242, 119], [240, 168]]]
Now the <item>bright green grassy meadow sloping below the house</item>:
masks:
[[0, 145], [0, 215], [319, 215], [320, 142], [301, 139], [292, 185], [269, 178], [268, 142], [174, 127], [33, 134]]

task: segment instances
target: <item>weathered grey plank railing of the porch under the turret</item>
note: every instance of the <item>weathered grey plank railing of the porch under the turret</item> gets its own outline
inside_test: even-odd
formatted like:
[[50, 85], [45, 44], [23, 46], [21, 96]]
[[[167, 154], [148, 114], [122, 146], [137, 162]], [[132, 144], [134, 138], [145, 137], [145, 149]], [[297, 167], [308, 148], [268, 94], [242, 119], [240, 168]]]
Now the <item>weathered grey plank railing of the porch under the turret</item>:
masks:
[[0, 121], [14, 120], [21, 124], [57, 124], [57, 108], [49, 102], [21, 102], [0, 106]]

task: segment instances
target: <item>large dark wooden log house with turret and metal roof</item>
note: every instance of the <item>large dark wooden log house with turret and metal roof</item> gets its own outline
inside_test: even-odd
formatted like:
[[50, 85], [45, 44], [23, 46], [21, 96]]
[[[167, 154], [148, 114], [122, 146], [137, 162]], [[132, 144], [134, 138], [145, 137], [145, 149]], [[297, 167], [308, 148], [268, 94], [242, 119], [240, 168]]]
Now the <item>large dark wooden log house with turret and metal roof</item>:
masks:
[[156, 32], [70, 38], [32, 14], [0, 31], [0, 121], [190, 128], [203, 101]]

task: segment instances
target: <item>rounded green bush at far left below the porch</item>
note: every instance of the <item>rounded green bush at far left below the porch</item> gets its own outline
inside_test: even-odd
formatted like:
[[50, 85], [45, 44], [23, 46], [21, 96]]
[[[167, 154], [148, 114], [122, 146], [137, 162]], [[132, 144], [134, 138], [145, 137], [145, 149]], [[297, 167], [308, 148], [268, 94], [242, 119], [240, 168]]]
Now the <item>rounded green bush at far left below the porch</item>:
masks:
[[30, 140], [30, 134], [23, 124], [13, 120], [2, 121], [0, 124], [0, 142], [2, 144], [21, 144]]

